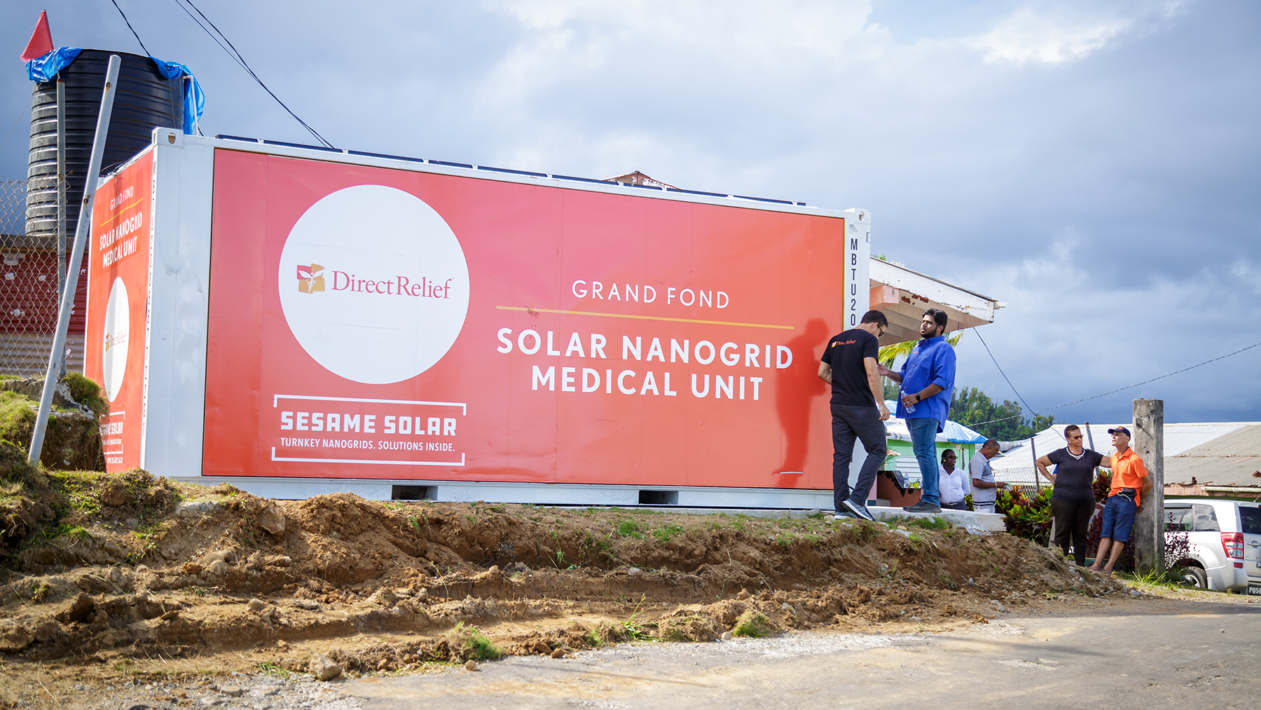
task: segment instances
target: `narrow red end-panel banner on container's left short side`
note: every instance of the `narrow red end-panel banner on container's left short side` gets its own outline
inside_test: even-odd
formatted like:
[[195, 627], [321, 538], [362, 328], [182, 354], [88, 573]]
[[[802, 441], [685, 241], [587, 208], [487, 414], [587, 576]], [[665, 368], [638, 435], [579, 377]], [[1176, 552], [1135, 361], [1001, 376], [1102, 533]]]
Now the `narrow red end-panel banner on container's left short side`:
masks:
[[110, 472], [140, 465], [153, 170], [150, 149], [101, 185], [92, 203], [84, 373], [110, 402], [101, 419]]

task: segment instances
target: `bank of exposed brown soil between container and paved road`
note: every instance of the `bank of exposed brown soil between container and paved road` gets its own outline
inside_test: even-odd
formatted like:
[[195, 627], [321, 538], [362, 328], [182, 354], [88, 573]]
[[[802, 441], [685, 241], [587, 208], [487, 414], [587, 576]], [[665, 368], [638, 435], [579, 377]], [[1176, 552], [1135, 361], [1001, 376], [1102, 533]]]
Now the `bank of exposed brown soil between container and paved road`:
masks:
[[[280, 502], [144, 472], [47, 478], [25, 518], [6, 513], [0, 706], [53, 706], [64, 684], [120, 676], [306, 671], [313, 652], [351, 675], [397, 672], [636, 638], [941, 629], [1130, 599], [1058, 552], [942, 521]], [[25, 690], [37, 681], [52, 692]]]

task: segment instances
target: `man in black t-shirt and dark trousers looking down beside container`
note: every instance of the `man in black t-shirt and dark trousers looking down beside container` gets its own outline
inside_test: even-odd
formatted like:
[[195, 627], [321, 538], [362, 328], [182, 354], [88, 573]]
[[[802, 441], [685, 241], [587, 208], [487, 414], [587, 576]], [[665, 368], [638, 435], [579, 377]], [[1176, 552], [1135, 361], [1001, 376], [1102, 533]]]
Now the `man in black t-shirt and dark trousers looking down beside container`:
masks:
[[[884, 388], [876, 373], [876, 356], [889, 320], [879, 310], [863, 315], [857, 328], [835, 335], [823, 348], [818, 363], [818, 377], [832, 386], [832, 503], [837, 518], [846, 513], [874, 520], [866, 509], [866, 497], [875, 482], [875, 473], [884, 463], [884, 420], [889, 409], [884, 406]], [[850, 491], [850, 459], [854, 458], [854, 439], [863, 441], [868, 457], [859, 470], [859, 479]]]

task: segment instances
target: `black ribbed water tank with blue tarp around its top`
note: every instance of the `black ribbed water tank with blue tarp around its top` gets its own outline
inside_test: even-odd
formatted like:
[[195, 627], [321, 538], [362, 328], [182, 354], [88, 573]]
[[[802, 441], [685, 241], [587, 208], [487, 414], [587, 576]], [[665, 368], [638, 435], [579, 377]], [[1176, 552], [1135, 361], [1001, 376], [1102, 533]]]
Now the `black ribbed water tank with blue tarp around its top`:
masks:
[[[87, 164], [92, 156], [96, 120], [101, 112], [110, 54], [122, 59], [110, 115], [101, 172], [126, 163], [149, 145], [155, 127], [184, 125], [180, 78], [168, 79], [149, 57], [84, 49], [62, 69], [66, 79], [66, 240], [74, 240], [83, 201]], [[57, 246], [57, 81], [37, 83], [30, 110], [30, 161], [26, 169], [26, 243]]]

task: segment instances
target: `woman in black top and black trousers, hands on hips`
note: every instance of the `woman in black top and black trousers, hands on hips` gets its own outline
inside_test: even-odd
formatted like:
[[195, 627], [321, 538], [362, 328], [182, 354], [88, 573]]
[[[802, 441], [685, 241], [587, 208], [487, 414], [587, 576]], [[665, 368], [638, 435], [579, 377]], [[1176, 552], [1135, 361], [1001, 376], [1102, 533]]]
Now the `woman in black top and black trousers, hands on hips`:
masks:
[[[1055, 518], [1055, 540], [1068, 555], [1068, 538], [1073, 540], [1073, 560], [1086, 566], [1086, 533], [1095, 515], [1095, 467], [1103, 457], [1082, 446], [1082, 429], [1076, 424], [1064, 428], [1068, 446], [1038, 459], [1038, 470], [1055, 486], [1050, 494], [1050, 512]], [[1047, 467], [1055, 464], [1055, 473]]]

